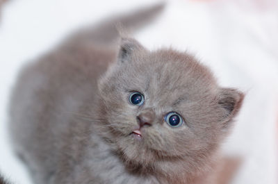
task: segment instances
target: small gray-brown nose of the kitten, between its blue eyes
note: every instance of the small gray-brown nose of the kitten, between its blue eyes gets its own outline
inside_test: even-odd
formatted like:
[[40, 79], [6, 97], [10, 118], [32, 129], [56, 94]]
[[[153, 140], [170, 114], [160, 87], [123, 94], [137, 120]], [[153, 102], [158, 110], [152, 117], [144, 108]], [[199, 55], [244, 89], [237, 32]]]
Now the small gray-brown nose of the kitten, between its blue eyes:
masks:
[[146, 108], [137, 116], [138, 124], [142, 126], [151, 126], [154, 122], [155, 114], [152, 108]]

